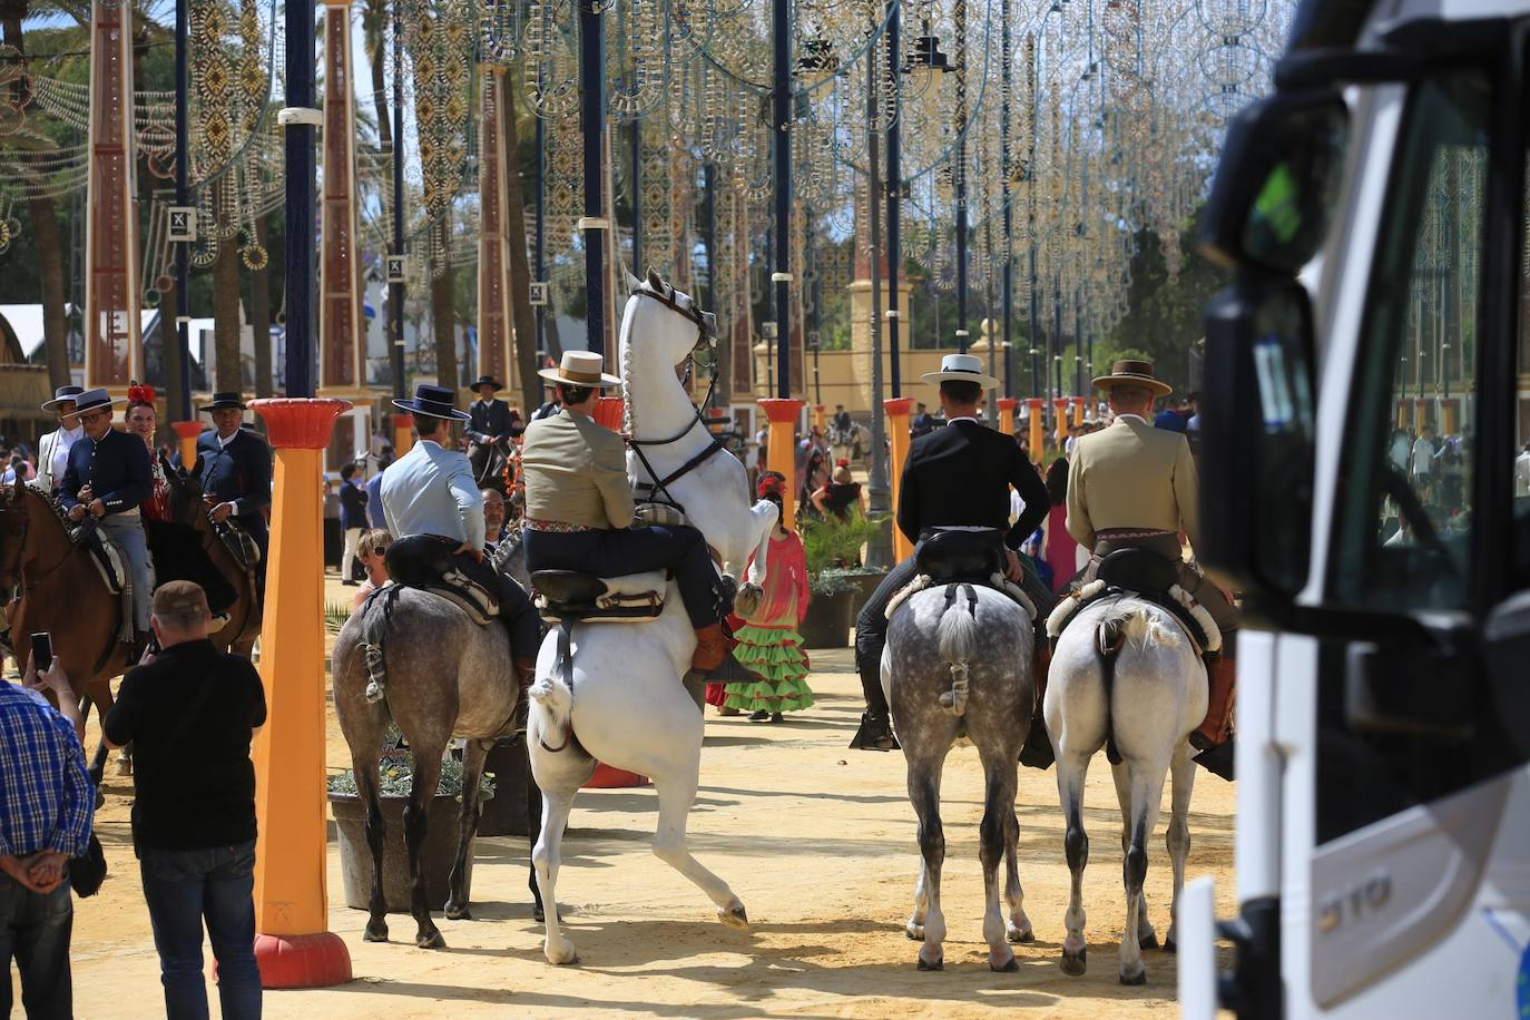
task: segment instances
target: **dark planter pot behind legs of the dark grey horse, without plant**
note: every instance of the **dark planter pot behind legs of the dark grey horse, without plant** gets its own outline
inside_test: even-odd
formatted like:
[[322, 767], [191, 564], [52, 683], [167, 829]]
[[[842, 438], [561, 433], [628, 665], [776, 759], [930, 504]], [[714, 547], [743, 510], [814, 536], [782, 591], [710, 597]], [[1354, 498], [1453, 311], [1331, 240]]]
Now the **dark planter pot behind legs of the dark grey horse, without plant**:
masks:
[[[404, 849], [405, 797], [382, 797], [382, 898], [389, 913], [409, 913], [409, 852]], [[372, 898], [372, 850], [367, 849], [367, 806], [360, 797], [329, 795], [329, 810], [335, 815], [340, 833], [340, 875], [346, 892], [346, 905], [366, 910]], [[425, 826], [425, 846], [421, 866], [425, 870], [425, 905], [442, 910], [447, 905], [447, 885], [451, 864], [457, 855], [457, 821], [462, 806], [454, 797], [436, 797], [430, 801], [430, 824]], [[468, 847], [468, 890], [473, 888], [473, 847]]]

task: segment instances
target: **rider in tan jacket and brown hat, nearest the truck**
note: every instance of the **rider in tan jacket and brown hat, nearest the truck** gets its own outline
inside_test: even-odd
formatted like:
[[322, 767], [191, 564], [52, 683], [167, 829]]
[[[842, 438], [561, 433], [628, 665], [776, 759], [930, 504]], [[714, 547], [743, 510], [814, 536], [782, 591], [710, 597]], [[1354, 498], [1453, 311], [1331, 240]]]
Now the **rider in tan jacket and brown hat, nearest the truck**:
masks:
[[[1109, 395], [1115, 424], [1082, 436], [1068, 463], [1068, 534], [1094, 551], [1085, 570], [1092, 580], [1100, 560], [1126, 547], [1160, 552], [1178, 564], [1180, 587], [1195, 596], [1222, 632], [1221, 655], [1206, 659], [1210, 699], [1206, 719], [1190, 734], [1200, 751], [1227, 745], [1232, 731], [1233, 647], [1239, 613], [1232, 596], [1180, 555], [1180, 532], [1200, 544], [1200, 483], [1190, 445], [1180, 433], [1154, 428], [1148, 414], [1172, 390], [1144, 361], [1117, 361], [1094, 385]], [[1218, 755], [1196, 760], [1222, 774]], [[1213, 760], [1218, 759], [1218, 760]]]

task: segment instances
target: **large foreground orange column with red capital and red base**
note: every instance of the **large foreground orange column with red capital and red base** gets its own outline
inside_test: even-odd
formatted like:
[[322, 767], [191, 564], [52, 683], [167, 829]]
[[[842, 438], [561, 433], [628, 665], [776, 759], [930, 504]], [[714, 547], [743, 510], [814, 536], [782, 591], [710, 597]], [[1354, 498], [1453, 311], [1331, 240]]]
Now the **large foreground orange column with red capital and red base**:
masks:
[[[263, 399], [275, 450], [256, 736], [256, 960], [266, 988], [350, 980], [350, 954], [329, 931], [324, 827], [324, 532], [320, 469], [349, 401]], [[277, 595], [280, 593], [280, 595]]]

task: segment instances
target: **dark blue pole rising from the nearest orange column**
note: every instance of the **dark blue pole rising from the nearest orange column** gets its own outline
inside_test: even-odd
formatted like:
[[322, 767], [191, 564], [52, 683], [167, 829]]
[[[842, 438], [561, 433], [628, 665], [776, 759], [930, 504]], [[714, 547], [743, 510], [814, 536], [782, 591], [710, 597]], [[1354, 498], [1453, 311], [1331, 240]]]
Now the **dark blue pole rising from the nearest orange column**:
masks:
[[314, 0], [286, 5], [286, 395], [314, 396]]

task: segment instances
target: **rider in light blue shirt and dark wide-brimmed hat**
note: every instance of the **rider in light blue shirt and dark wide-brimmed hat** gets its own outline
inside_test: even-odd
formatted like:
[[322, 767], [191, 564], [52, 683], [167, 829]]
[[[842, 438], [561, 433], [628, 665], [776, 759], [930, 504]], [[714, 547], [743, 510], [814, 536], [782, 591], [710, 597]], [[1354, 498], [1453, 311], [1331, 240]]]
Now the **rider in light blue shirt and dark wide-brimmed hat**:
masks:
[[[525, 589], [514, 578], [496, 572], [483, 558], [483, 497], [473, 480], [467, 454], [457, 453], [461, 422], [468, 416], [451, 405], [451, 390], [430, 384], [416, 385], [413, 399], [393, 401], [393, 407], [415, 416], [419, 442], [382, 476], [382, 512], [389, 531], [395, 538], [438, 538], [459, 570], [494, 593], [525, 693], [536, 674], [540, 619]], [[519, 702], [520, 719], [525, 700]]]

